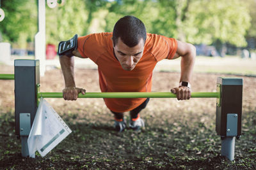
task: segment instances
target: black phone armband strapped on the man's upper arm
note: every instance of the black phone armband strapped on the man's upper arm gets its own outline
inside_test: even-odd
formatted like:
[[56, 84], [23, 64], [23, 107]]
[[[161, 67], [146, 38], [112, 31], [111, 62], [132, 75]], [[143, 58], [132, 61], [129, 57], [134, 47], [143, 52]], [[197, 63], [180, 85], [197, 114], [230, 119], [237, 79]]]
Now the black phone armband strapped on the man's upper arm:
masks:
[[77, 49], [77, 34], [67, 40], [67, 41], [60, 41], [58, 46], [58, 55], [67, 55], [68, 57], [73, 56], [73, 51]]

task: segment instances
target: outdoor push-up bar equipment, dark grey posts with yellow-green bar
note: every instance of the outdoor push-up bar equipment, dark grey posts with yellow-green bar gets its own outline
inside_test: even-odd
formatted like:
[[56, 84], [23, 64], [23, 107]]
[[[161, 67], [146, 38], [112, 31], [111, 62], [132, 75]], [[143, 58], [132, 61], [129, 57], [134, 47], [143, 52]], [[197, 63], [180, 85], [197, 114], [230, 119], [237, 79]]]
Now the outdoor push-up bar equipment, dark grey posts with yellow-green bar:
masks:
[[[15, 134], [21, 139], [22, 157], [28, 157], [28, 136], [35, 118], [38, 100], [61, 98], [61, 92], [40, 92], [39, 60], [15, 60]], [[13, 74], [0, 74], [12, 80]], [[217, 92], [192, 92], [191, 97], [216, 98], [216, 132], [221, 137], [221, 155], [234, 160], [235, 137], [241, 136], [242, 78], [217, 80]], [[81, 98], [176, 97], [171, 92], [86, 92]]]

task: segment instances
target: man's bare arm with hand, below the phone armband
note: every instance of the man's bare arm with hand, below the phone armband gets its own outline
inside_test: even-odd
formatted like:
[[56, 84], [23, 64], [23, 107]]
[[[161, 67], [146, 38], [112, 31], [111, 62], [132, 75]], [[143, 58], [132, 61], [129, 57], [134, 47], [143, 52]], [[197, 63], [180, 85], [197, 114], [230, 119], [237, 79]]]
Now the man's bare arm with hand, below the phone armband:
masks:
[[[78, 50], [72, 52], [77, 57], [82, 57]], [[65, 80], [65, 89], [62, 90], [63, 98], [65, 100], [76, 100], [78, 94], [81, 92], [85, 94], [84, 89], [76, 87], [75, 78], [74, 78], [74, 57], [67, 57], [66, 55], [60, 56], [60, 65], [61, 70]]]

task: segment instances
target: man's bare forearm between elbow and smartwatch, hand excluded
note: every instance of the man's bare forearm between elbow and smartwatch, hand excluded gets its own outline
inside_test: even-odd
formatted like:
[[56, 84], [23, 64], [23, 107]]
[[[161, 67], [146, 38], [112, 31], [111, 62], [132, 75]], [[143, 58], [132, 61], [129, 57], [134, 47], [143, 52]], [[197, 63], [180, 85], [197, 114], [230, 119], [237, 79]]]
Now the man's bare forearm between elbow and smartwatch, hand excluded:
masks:
[[195, 58], [196, 58], [196, 50], [195, 46], [191, 45], [191, 50], [189, 50], [186, 55], [181, 57], [180, 61], [180, 81], [190, 81], [192, 72], [193, 72], [193, 66], [195, 64]]

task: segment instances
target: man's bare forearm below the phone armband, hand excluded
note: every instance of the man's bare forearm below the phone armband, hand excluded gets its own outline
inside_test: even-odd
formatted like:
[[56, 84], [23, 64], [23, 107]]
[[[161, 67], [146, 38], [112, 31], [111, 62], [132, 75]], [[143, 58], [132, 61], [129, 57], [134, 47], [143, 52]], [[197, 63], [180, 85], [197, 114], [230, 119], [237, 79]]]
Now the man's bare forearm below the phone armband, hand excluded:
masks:
[[65, 80], [65, 87], [76, 87], [74, 78], [74, 57], [62, 55], [60, 57], [60, 65]]

